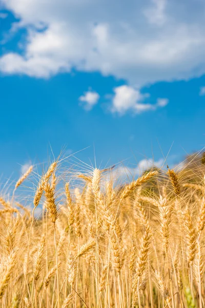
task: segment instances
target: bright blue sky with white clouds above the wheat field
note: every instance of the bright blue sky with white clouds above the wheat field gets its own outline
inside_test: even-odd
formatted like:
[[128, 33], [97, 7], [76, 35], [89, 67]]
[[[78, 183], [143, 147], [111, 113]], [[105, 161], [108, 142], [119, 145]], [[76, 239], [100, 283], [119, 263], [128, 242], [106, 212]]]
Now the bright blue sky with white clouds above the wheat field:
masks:
[[159, 164], [170, 148], [175, 164], [204, 146], [204, 2], [118, 3], [2, 1], [6, 177], [46, 162], [50, 147], [134, 168]]

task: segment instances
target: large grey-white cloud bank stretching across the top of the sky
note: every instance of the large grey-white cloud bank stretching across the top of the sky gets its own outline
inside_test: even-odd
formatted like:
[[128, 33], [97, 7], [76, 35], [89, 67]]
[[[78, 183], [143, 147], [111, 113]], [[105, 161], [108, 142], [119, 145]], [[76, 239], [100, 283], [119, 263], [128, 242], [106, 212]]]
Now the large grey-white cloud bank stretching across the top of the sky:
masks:
[[[9, 52], [0, 70], [48, 78], [99, 71], [143, 86], [205, 73], [205, 3], [191, 0], [2, 0], [27, 29], [24, 52]], [[109, 10], [106, 9], [109, 7]], [[139, 106], [140, 108], [140, 106]], [[144, 106], [141, 106], [144, 108]]]

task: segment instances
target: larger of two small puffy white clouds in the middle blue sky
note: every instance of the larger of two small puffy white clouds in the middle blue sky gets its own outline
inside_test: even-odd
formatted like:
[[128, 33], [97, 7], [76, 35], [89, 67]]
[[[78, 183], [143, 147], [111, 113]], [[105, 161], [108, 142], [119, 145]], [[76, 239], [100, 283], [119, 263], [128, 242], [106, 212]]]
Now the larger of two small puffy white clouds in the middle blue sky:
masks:
[[128, 110], [135, 113], [156, 110], [158, 107], [165, 107], [169, 102], [168, 99], [158, 99], [156, 104], [145, 104], [143, 101], [149, 95], [141, 94], [139, 90], [127, 85], [114, 88], [114, 92], [111, 111], [119, 114], [124, 114]]

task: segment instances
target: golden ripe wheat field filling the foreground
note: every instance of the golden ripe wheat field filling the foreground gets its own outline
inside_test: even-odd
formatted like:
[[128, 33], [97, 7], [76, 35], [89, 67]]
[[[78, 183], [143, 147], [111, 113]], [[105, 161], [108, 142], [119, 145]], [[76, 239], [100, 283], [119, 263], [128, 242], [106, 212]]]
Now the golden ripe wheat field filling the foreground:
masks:
[[111, 169], [75, 185], [59, 169], [35, 177], [30, 207], [18, 191], [32, 166], [0, 196], [2, 308], [204, 307], [203, 168], [118, 185]]

